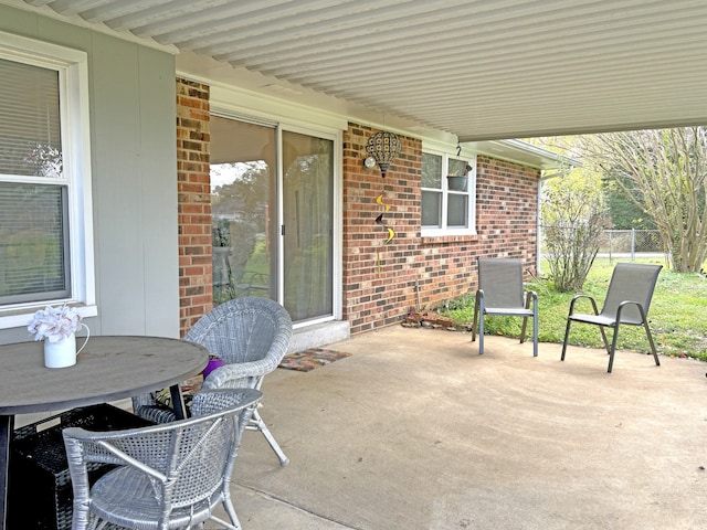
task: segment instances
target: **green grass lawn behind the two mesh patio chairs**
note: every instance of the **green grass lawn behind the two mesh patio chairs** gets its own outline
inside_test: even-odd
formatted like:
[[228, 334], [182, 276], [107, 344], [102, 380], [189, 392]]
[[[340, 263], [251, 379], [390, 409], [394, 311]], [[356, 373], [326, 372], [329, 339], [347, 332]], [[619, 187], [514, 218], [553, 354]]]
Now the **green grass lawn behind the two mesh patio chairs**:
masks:
[[[601, 309], [611, 273], [616, 263], [608, 258], [597, 258], [584, 283], [583, 294], [593, 296]], [[663, 259], [636, 259], [636, 263], [664, 265], [653, 294], [648, 320], [653, 340], [658, 353], [675, 357], [694, 357], [707, 361], [707, 277], [699, 274], [677, 274], [665, 268]], [[549, 271], [546, 266], [545, 271]], [[528, 284], [528, 289], [538, 294], [538, 339], [540, 342], [562, 342], [567, 315], [573, 293], [558, 293], [552, 283], [539, 278]], [[587, 306], [576, 310], [590, 312]], [[457, 325], [468, 325], [474, 318], [474, 295], [453, 300], [449, 309], [441, 310]], [[486, 317], [485, 327], [489, 335], [518, 337], [521, 319], [513, 317]], [[611, 330], [606, 331], [611, 341]], [[603, 348], [597, 326], [573, 324], [570, 330], [571, 344]], [[643, 327], [622, 326], [618, 348], [633, 351], [650, 350]]]

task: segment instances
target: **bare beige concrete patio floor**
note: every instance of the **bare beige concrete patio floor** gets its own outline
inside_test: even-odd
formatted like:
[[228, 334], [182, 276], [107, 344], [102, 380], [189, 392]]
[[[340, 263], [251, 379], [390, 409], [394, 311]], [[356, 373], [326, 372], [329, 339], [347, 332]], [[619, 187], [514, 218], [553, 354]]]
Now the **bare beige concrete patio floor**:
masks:
[[707, 364], [393, 326], [265, 378], [244, 530], [707, 528]]

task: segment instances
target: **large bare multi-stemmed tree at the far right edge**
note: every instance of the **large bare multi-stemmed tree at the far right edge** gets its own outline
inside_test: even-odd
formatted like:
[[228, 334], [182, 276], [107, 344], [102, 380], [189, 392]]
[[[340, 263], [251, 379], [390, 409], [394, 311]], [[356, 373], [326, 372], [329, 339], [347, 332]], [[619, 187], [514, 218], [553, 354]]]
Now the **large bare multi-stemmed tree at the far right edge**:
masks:
[[707, 257], [707, 128], [612, 132], [582, 141], [585, 157], [653, 219], [673, 268], [699, 271]]

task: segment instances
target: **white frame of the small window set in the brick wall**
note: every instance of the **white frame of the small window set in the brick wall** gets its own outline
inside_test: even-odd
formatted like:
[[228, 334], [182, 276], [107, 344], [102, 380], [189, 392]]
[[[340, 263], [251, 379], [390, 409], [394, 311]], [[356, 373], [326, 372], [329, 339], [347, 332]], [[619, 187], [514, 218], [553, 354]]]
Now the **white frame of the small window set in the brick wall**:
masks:
[[[421, 226], [420, 234], [422, 237], [433, 237], [433, 236], [453, 236], [453, 235], [476, 235], [476, 153], [469, 151], [462, 151], [460, 155], [456, 155], [456, 146], [454, 148], [450, 148], [450, 150], [440, 150], [434, 148], [425, 148], [422, 146], [422, 151], [429, 155], [435, 155], [437, 157], [442, 157], [442, 172], [441, 174], [441, 190], [439, 188], [421, 188], [422, 191], [433, 191], [442, 193], [442, 205], [441, 205], [441, 226]], [[468, 181], [466, 183], [466, 191], [458, 192], [452, 191], [449, 189], [447, 179], [446, 179], [446, 170], [449, 168], [449, 162], [451, 159], [462, 159], [468, 161], [468, 165], [472, 167], [472, 170], [468, 172]], [[467, 226], [458, 227], [458, 226], [447, 226], [447, 203], [449, 197], [451, 193], [458, 194], [463, 193], [467, 195]], [[422, 197], [422, 195], [421, 195]], [[422, 204], [421, 204], [422, 211]]]

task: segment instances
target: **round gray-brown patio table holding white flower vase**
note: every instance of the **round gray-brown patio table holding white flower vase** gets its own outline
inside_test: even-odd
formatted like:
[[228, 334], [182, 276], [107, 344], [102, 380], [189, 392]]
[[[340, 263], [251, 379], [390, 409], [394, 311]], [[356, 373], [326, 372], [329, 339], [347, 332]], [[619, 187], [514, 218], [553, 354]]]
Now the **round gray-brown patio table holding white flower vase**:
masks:
[[0, 530], [6, 530], [15, 414], [106, 403], [169, 386], [175, 412], [183, 417], [179, 383], [200, 373], [208, 360], [202, 346], [163, 337], [91, 337], [68, 368], [45, 368], [41, 342], [0, 346]]

